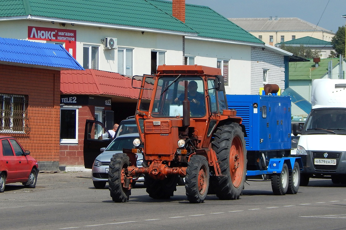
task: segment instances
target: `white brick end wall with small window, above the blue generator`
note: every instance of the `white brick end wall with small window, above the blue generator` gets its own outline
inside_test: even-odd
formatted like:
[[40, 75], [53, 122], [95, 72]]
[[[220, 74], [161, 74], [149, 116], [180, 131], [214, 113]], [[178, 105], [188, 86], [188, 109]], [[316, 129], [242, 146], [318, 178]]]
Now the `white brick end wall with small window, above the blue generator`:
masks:
[[285, 88], [284, 57], [262, 48], [251, 48], [251, 94], [260, 93], [263, 84], [263, 69], [268, 70], [268, 84]]

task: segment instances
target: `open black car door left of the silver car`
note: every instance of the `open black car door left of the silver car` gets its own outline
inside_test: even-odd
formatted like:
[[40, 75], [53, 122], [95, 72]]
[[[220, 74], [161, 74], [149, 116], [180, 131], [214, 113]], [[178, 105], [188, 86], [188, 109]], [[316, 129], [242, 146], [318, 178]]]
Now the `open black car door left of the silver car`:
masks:
[[96, 157], [101, 153], [100, 149], [107, 147], [112, 137], [104, 124], [99, 121], [86, 120], [84, 130], [84, 167], [92, 168]]

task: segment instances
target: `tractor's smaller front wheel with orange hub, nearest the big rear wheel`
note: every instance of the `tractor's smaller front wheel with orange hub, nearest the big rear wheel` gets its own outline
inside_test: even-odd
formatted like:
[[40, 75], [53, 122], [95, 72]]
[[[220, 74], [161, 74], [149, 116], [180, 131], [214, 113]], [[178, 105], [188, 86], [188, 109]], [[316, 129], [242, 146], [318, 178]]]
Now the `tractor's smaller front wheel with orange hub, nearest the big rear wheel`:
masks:
[[200, 155], [190, 157], [186, 168], [185, 190], [190, 203], [204, 203], [209, 187], [207, 158]]

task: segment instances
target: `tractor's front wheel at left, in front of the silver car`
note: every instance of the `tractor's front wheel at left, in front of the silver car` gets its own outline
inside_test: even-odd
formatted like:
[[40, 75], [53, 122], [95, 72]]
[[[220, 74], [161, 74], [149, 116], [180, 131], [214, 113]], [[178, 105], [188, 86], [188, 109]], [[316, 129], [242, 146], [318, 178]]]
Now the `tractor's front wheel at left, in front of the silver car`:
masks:
[[112, 200], [117, 203], [127, 202], [131, 195], [131, 190], [124, 188], [121, 177], [126, 176], [127, 167], [130, 165], [129, 157], [126, 153], [114, 154], [110, 159], [108, 171], [108, 188]]

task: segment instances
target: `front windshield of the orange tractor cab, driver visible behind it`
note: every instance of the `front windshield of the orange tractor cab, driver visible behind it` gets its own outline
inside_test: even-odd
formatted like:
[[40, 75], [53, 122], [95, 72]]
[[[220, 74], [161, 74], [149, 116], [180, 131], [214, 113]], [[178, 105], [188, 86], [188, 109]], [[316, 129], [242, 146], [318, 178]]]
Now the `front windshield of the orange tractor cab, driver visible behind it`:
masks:
[[154, 98], [153, 117], [182, 117], [185, 81], [188, 81], [190, 116], [206, 114], [204, 85], [200, 77], [161, 77]]

